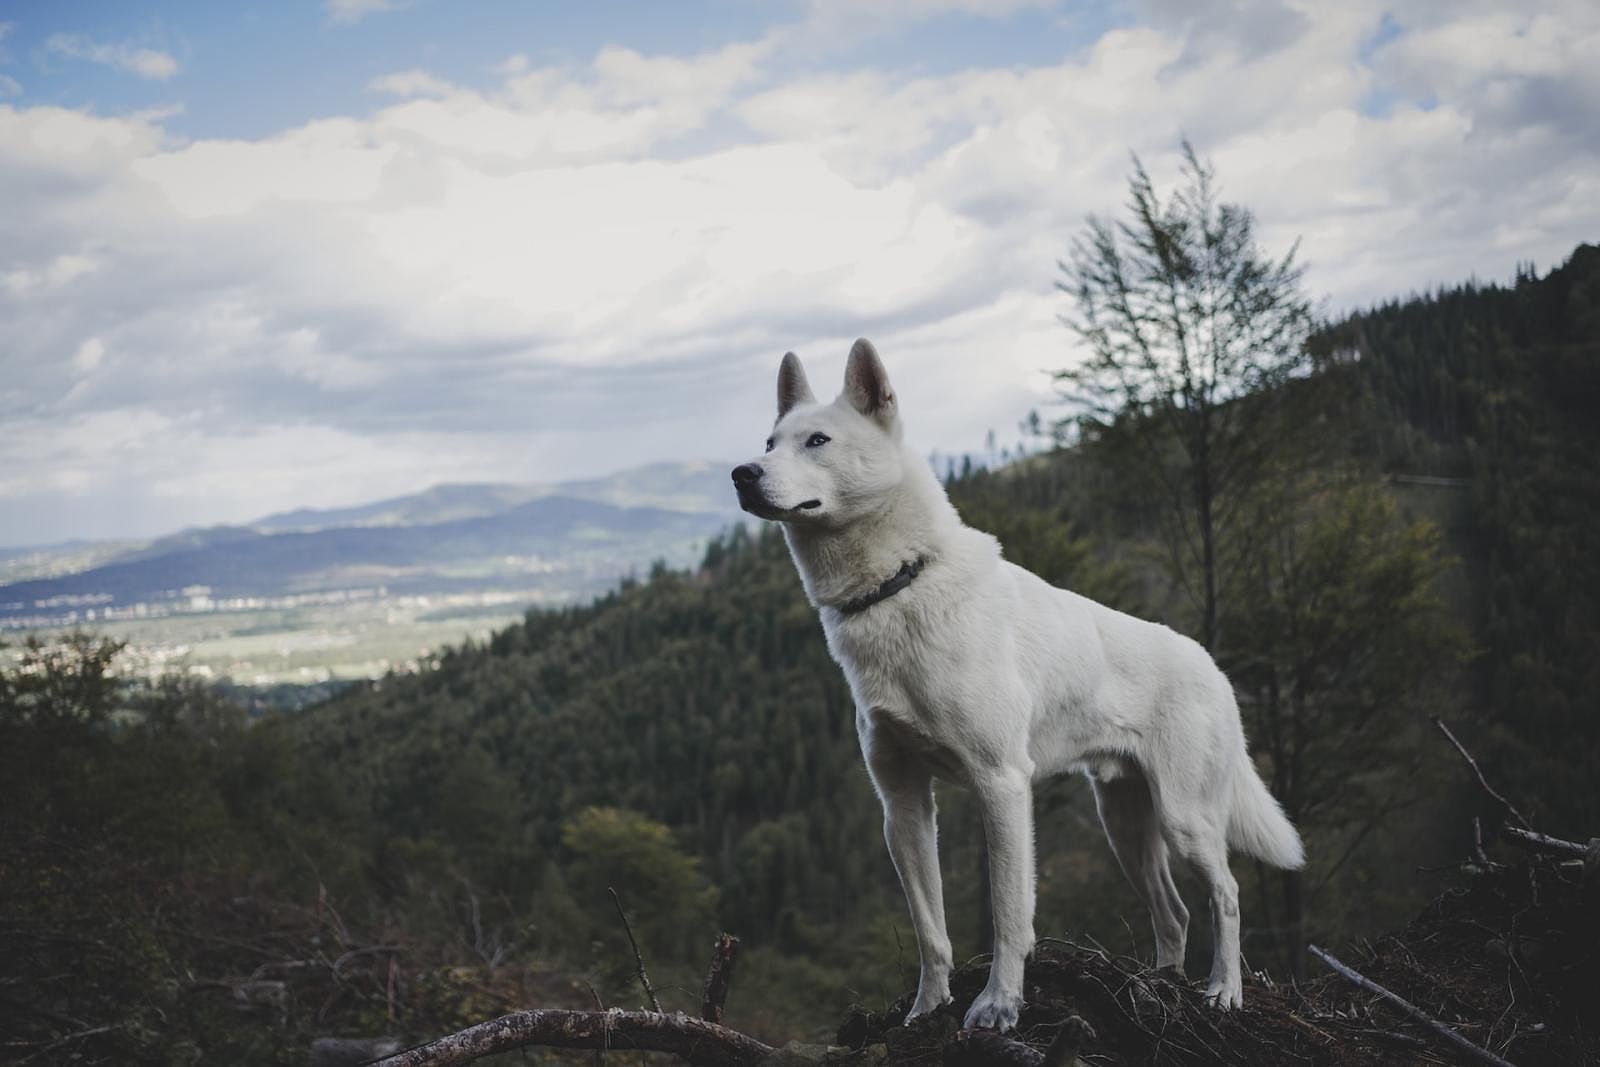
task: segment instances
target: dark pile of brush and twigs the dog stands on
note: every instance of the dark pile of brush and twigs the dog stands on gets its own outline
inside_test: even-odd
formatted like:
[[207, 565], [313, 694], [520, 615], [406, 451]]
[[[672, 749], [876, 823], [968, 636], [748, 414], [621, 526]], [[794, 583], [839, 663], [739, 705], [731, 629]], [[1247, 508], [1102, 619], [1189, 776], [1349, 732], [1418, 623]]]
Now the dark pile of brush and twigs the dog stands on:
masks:
[[1245, 1008], [1219, 1013], [1205, 1006], [1202, 982], [1046, 939], [1029, 961], [1027, 1006], [1006, 1038], [958, 1030], [987, 977], [981, 958], [952, 977], [952, 1005], [910, 1025], [901, 1025], [909, 997], [883, 1014], [853, 1011], [827, 1061], [1600, 1064], [1600, 840], [1579, 845], [1517, 827], [1504, 840], [1522, 849], [1517, 862], [1477, 849], [1461, 885], [1405, 929], [1341, 950], [1334, 963], [1368, 985], [1338, 973], [1299, 985], [1246, 977]]

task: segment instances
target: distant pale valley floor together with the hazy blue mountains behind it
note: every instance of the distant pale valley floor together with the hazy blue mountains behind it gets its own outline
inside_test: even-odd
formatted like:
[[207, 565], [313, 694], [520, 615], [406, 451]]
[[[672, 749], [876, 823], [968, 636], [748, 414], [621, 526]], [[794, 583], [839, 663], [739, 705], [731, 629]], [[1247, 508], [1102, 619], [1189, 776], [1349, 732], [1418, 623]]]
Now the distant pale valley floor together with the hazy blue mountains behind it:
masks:
[[[309, 693], [413, 672], [530, 608], [584, 603], [736, 522], [725, 466], [651, 464], [554, 485], [443, 485], [149, 542], [0, 552], [0, 664], [93, 629], [118, 669]], [[299, 702], [293, 697], [290, 704]]]

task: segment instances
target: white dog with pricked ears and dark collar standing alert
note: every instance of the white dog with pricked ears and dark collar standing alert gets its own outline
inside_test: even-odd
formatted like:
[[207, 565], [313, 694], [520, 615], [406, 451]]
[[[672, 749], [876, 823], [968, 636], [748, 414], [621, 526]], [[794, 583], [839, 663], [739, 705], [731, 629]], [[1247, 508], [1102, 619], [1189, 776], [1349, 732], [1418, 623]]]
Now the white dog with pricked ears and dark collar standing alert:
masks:
[[1304, 853], [1250, 761], [1234, 689], [1211, 656], [1165, 625], [1046, 584], [962, 525], [902, 443], [894, 390], [866, 341], [827, 405], [800, 360], [784, 357], [766, 454], [736, 467], [733, 482], [744, 510], [784, 525], [856, 701], [922, 953], [910, 1016], [950, 1000], [933, 777], [973, 789], [982, 809], [995, 952], [966, 1025], [1006, 1030], [1034, 947], [1032, 785], [1074, 769], [1090, 776], [1112, 851], [1150, 909], [1158, 966], [1182, 966], [1189, 925], [1168, 856], [1198, 873], [1214, 931], [1206, 995], [1237, 1008], [1229, 845], [1290, 869]]

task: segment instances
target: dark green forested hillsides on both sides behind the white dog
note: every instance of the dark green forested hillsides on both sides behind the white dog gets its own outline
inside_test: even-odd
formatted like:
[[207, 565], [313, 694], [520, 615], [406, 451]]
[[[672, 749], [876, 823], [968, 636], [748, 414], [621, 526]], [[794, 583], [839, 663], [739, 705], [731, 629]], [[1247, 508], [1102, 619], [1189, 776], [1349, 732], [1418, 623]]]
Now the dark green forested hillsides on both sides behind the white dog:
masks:
[[[1355, 315], [1315, 352], [1285, 434], [1322, 443], [1285, 472], [1294, 509], [1242, 504], [1270, 518], [1235, 545], [1266, 592], [1219, 613], [1262, 768], [1307, 792], [1307, 885], [1240, 865], [1245, 952], [1275, 968], [1285, 913], [1330, 942], [1376, 933], [1437, 893], [1419, 864], [1464, 854], [1478, 800], [1442, 787], [1429, 712], [1541, 825], [1600, 827], [1600, 248]], [[1050, 581], [1192, 627], [1122, 440], [968, 474], [952, 498]], [[85, 638], [0, 681], [0, 1027], [29, 1048], [302, 1062], [320, 1033], [637, 1003], [610, 886], [669, 1008], [696, 1000], [718, 929], [744, 937], [730, 1022], [770, 1040], [914, 981], [848, 693], [771, 530], [299, 715], [128, 691], [107, 664]], [[1294, 747], [1286, 723], [1323, 733]], [[1290, 755], [1323, 777], [1285, 777]], [[1323, 803], [1331, 782], [1347, 792]], [[939, 798], [963, 958], [981, 841], [962, 793]], [[1038, 933], [1147, 955], [1080, 785], [1040, 790], [1038, 837]]]

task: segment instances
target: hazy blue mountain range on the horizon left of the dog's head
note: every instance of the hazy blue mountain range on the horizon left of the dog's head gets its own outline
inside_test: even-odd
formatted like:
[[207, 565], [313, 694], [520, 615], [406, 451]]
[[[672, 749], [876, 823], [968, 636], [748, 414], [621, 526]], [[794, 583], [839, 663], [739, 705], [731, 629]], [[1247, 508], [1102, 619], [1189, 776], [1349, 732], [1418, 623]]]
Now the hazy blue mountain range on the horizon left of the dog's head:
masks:
[[123, 544], [109, 558], [66, 545], [85, 565], [67, 573], [58, 560], [13, 574], [0, 584], [0, 619], [173, 601], [186, 589], [210, 600], [379, 585], [579, 593], [654, 558], [688, 561], [738, 514], [725, 486], [720, 464], [653, 464], [557, 486], [442, 485], [358, 507], [298, 509]]

